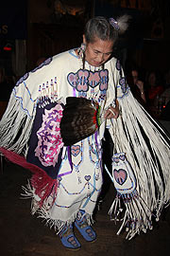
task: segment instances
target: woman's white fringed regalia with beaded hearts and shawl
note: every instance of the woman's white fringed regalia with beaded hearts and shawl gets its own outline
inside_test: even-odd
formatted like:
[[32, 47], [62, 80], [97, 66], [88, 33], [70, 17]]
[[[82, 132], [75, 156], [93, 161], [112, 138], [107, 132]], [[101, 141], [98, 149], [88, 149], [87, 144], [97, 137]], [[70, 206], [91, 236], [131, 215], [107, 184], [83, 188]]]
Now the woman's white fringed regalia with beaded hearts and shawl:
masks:
[[[67, 97], [92, 99], [103, 111], [117, 99], [120, 116], [66, 147], [59, 121]], [[80, 209], [92, 219], [102, 186], [106, 126], [114, 143], [110, 178], [117, 191], [109, 213], [114, 220], [121, 215], [117, 233], [126, 228], [130, 239], [152, 229], [152, 218], [158, 220], [169, 202], [170, 146], [161, 127], [133, 98], [115, 58], [103, 69], [88, 63], [83, 69], [82, 60], [70, 50], [26, 73], [13, 88], [0, 122], [1, 153], [33, 170], [25, 190], [32, 197], [32, 213], [60, 230], [74, 222]]]

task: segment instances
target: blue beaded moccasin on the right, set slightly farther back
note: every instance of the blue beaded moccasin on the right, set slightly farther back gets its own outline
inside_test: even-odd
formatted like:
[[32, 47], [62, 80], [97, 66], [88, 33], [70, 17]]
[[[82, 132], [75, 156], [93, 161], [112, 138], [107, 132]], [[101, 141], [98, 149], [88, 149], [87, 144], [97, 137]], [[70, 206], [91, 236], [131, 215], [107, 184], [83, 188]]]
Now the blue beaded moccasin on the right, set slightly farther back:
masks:
[[76, 216], [75, 226], [87, 242], [93, 242], [96, 239], [96, 233], [89, 226], [84, 213], [84, 210], [79, 210]]

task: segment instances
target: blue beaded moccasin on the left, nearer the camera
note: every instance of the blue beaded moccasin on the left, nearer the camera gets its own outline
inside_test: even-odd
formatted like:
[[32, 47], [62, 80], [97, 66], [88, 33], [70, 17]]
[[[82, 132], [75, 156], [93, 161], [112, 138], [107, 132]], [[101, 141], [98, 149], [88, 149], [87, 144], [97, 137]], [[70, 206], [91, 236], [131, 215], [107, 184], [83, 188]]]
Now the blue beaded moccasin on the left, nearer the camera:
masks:
[[73, 232], [72, 225], [65, 226], [59, 232], [59, 238], [60, 238], [62, 245], [66, 248], [76, 250], [81, 247], [80, 243], [77, 241], [76, 236]]

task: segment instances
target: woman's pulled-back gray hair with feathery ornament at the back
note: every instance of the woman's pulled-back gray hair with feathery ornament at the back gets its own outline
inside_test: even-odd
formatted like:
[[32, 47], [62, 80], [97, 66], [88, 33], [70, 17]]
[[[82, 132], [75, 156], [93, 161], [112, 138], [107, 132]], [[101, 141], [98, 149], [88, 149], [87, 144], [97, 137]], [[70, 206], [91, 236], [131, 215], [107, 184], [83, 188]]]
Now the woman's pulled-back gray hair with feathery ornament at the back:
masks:
[[86, 26], [84, 35], [87, 43], [93, 43], [95, 38], [99, 38], [103, 41], [113, 41], [113, 43], [118, 39], [119, 34], [124, 33], [128, 27], [128, 20], [130, 16], [127, 14], [117, 18], [115, 21], [118, 29], [112, 26], [110, 23], [110, 19], [96, 16], [90, 19]]

